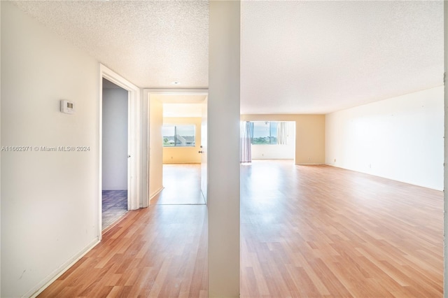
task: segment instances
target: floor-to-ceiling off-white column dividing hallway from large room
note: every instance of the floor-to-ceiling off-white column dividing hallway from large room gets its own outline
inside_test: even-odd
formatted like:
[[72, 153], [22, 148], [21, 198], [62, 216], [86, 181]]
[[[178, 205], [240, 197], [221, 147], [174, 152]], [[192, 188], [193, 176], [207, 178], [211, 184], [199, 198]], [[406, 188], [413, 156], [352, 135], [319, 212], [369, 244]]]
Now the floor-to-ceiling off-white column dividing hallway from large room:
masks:
[[240, 2], [209, 4], [209, 297], [239, 297]]

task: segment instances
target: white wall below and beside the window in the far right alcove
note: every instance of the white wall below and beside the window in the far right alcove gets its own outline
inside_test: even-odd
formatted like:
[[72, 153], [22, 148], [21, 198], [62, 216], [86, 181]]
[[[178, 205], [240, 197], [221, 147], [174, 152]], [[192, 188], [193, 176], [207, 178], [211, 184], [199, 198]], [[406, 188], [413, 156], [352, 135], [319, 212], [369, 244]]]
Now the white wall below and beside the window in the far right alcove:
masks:
[[295, 122], [288, 121], [288, 137], [284, 145], [252, 145], [252, 159], [294, 159]]

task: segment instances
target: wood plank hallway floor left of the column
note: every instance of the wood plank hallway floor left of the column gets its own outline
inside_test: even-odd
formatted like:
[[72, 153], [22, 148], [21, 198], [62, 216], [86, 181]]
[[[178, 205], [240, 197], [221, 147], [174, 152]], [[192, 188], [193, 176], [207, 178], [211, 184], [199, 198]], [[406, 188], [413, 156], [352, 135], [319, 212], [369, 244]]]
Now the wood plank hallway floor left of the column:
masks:
[[207, 206], [129, 211], [38, 297], [207, 297]]

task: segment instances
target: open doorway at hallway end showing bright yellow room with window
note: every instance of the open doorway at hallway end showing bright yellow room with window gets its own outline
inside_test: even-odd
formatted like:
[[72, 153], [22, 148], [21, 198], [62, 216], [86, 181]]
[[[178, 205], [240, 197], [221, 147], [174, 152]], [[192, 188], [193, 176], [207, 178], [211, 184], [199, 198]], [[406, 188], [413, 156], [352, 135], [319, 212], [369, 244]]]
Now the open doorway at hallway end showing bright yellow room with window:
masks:
[[148, 101], [150, 204], [206, 204], [207, 93], [149, 92]]

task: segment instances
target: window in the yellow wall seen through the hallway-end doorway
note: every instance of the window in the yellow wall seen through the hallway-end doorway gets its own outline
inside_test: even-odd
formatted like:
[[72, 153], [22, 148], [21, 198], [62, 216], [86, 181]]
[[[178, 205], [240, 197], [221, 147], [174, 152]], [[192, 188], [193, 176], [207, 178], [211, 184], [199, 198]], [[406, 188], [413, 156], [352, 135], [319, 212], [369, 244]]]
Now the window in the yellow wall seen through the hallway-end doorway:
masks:
[[164, 147], [194, 147], [195, 125], [163, 125], [162, 140]]

